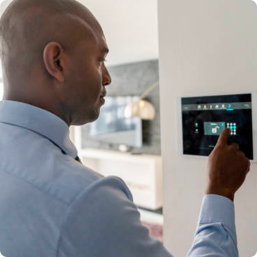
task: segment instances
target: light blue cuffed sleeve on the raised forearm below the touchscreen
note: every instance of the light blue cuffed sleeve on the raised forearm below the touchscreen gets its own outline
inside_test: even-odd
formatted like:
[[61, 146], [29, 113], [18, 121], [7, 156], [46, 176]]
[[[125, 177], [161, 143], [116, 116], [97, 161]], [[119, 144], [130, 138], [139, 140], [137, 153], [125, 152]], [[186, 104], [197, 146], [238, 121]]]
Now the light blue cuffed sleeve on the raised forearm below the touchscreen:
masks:
[[199, 225], [187, 257], [238, 257], [234, 203], [208, 194], [203, 198]]

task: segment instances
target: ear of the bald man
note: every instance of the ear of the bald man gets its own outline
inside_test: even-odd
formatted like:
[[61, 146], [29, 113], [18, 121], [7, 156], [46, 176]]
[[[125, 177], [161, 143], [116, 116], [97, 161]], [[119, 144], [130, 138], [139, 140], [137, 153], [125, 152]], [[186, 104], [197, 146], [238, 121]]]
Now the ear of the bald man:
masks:
[[64, 82], [63, 75], [63, 47], [57, 42], [50, 42], [44, 48], [44, 66], [51, 77], [58, 82]]

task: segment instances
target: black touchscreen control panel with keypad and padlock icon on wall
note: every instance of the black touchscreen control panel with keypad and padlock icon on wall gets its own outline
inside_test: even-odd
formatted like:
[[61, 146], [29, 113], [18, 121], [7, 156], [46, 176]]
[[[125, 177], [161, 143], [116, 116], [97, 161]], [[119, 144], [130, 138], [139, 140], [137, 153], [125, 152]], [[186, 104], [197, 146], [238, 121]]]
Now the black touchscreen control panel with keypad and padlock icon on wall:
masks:
[[253, 159], [251, 94], [184, 97], [181, 104], [184, 154], [208, 156], [229, 127], [228, 143], [236, 142]]

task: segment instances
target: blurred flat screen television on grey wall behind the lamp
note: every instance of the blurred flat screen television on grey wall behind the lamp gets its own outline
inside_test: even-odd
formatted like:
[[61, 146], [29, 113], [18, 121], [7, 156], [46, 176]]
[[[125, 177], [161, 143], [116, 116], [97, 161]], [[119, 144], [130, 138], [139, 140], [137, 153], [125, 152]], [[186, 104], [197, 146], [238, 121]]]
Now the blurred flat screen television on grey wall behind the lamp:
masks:
[[88, 137], [108, 144], [142, 146], [142, 119], [125, 118], [125, 106], [139, 96], [106, 96], [99, 118], [89, 123]]

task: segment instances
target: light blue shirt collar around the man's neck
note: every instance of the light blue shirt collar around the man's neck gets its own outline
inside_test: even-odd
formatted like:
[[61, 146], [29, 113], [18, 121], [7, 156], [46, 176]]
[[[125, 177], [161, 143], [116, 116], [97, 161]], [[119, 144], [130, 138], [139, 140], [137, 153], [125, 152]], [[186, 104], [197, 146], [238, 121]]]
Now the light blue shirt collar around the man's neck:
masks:
[[0, 123], [8, 123], [42, 134], [75, 158], [77, 149], [70, 141], [68, 125], [58, 116], [42, 108], [19, 101], [0, 102]]

